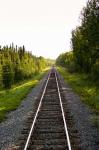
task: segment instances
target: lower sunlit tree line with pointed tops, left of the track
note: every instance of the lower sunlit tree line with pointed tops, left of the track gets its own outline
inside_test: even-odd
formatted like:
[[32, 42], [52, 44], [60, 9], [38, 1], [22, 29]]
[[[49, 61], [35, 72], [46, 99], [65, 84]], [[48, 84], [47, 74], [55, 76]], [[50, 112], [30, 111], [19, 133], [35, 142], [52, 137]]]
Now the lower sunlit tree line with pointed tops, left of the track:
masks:
[[0, 87], [11, 88], [12, 84], [33, 77], [47, 66], [47, 60], [26, 51], [25, 46], [0, 46]]

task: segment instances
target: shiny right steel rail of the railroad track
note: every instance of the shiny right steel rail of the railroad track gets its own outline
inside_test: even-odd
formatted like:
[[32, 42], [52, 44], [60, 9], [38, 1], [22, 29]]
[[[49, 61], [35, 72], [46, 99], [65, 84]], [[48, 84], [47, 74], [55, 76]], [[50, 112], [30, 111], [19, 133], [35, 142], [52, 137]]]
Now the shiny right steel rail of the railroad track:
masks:
[[62, 117], [63, 117], [63, 122], [64, 122], [65, 135], [66, 135], [66, 139], [67, 139], [68, 149], [71, 150], [71, 143], [70, 143], [69, 133], [68, 133], [68, 129], [67, 129], [67, 123], [66, 123], [66, 119], [65, 119], [65, 113], [64, 113], [64, 109], [63, 109], [63, 103], [62, 103], [62, 99], [61, 99], [61, 95], [60, 95], [60, 89], [59, 89], [56, 72], [55, 72], [55, 78], [56, 78], [56, 83], [57, 83], [58, 96], [59, 96], [59, 100], [60, 100], [60, 106], [61, 106], [61, 111], [62, 111]]

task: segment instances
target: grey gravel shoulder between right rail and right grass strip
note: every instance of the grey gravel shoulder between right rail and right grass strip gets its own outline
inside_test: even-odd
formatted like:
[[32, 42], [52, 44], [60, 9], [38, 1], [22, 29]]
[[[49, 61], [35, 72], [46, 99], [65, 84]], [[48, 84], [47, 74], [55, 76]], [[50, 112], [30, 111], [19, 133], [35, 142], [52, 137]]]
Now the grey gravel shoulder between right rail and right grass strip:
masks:
[[64, 81], [59, 73], [58, 77], [64, 90], [67, 105], [80, 135], [81, 147], [84, 150], [99, 150], [99, 129], [91, 121], [91, 117], [94, 115], [93, 112], [73, 92], [72, 88]]

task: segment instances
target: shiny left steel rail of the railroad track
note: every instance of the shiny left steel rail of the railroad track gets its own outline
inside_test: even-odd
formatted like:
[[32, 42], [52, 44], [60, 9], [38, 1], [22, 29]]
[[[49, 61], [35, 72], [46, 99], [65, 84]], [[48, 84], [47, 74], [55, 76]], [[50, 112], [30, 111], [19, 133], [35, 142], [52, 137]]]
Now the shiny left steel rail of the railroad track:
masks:
[[44, 94], [45, 94], [45, 91], [46, 91], [46, 87], [47, 87], [47, 84], [48, 84], [48, 81], [49, 81], [50, 74], [51, 74], [51, 72], [50, 72], [49, 75], [48, 75], [48, 78], [47, 78], [47, 81], [46, 81], [46, 84], [45, 84], [45, 87], [44, 87], [44, 91], [43, 91], [43, 93], [42, 93], [42, 96], [41, 96], [41, 99], [40, 99], [40, 102], [39, 102], [39, 106], [38, 106], [38, 108], [37, 108], [35, 117], [34, 117], [34, 119], [33, 119], [32, 126], [31, 126], [31, 128], [30, 128], [30, 132], [29, 132], [29, 135], [28, 135], [28, 138], [27, 138], [27, 141], [26, 141], [24, 150], [27, 150], [27, 148], [28, 148], [29, 141], [30, 141], [30, 138], [31, 138], [33, 129], [34, 129], [34, 125], [35, 125], [35, 122], [36, 122], [36, 119], [37, 119], [37, 116], [38, 116], [38, 112], [39, 112], [40, 107], [41, 107], [41, 104], [42, 104], [42, 100], [43, 100], [43, 97], [44, 97]]

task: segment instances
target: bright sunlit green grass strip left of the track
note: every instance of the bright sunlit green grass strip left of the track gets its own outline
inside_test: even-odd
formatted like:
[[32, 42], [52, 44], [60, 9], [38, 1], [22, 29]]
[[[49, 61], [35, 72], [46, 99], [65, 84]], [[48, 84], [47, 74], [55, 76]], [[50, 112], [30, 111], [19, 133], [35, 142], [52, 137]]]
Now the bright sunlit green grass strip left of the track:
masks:
[[10, 90], [0, 90], [0, 122], [6, 119], [9, 111], [15, 110], [20, 105], [23, 98], [31, 88], [37, 85], [47, 71], [48, 69], [34, 76], [31, 80], [14, 85]]

